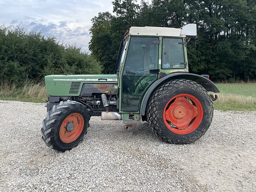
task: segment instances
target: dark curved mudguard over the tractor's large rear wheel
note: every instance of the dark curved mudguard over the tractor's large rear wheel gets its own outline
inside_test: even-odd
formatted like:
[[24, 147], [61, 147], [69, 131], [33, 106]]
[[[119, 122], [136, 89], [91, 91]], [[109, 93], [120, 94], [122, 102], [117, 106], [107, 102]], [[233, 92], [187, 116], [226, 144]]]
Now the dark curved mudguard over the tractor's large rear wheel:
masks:
[[188, 79], [191, 81], [194, 81], [204, 87], [206, 91], [219, 93], [219, 89], [216, 87], [216, 85], [209, 79], [207, 79], [204, 76], [196, 75], [192, 73], [183, 73], [183, 72], [177, 72], [177, 73], [171, 73], [169, 75], [166, 75], [158, 80], [154, 84], [151, 85], [149, 88], [146, 96], [144, 97], [143, 103], [141, 104], [141, 115], [145, 115], [148, 99], [151, 96], [151, 94], [154, 92], [154, 90], [162, 83], [174, 80], [174, 79]]

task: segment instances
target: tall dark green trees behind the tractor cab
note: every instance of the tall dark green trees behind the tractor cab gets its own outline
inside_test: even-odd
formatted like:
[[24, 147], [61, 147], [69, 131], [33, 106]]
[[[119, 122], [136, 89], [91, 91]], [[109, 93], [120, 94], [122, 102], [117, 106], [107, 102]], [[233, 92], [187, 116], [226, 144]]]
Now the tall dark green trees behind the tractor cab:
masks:
[[188, 44], [189, 71], [212, 80], [256, 78], [255, 0], [115, 0], [114, 14], [92, 19], [89, 49], [113, 73], [121, 40], [131, 26], [180, 28], [197, 24], [198, 38]]

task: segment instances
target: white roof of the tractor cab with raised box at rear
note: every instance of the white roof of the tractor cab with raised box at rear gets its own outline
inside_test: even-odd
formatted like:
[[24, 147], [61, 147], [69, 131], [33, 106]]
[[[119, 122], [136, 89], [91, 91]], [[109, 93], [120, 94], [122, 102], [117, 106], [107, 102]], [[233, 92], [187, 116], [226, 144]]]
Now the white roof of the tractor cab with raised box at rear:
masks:
[[[169, 27], [131, 27], [129, 31], [132, 36], [173, 36], [186, 37], [196, 36], [196, 24], [188, 24], [182, 28]], [[182, 35], [180, 35], [182, 34]]]

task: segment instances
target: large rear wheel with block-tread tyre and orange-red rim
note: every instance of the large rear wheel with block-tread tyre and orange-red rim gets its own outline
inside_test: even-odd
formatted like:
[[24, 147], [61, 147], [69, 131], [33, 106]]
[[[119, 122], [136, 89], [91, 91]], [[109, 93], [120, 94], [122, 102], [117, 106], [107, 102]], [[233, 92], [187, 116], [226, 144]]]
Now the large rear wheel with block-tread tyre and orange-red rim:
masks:
[[194, 142], [208, 130], [212, 117], [209, 93], [186, 79], [169, 81], [158, 87], [147, 107], [151, 130], [167, 143]]

